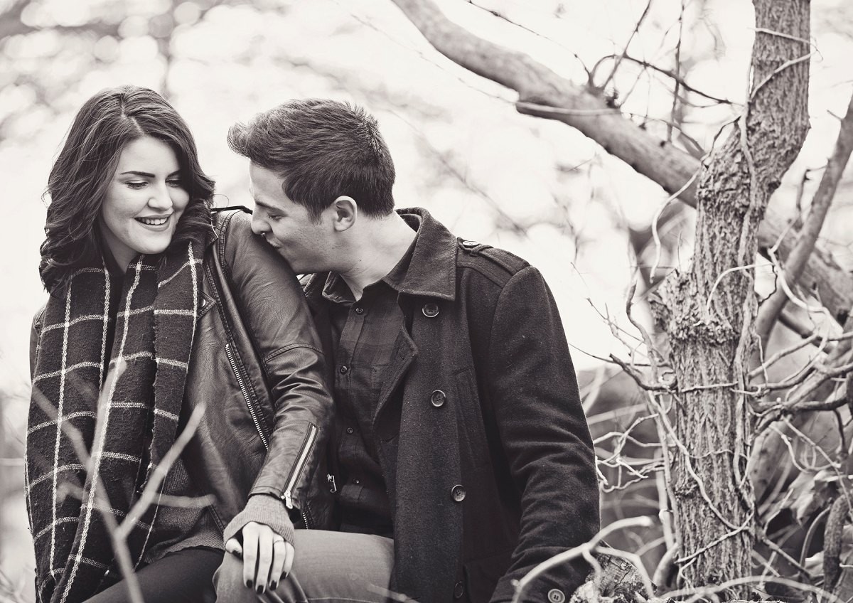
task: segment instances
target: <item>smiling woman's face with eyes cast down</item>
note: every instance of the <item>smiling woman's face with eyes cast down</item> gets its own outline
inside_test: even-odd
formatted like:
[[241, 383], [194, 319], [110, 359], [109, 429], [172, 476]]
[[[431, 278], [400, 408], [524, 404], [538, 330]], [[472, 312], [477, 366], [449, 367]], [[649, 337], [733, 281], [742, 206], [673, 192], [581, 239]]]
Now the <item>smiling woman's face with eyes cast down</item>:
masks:
[[125, 270], [140, 253], [164, 252], [188, 203], [171, 147], [151, 136], [129, 142], [100, 214], [104, 241], [119, 267]]

